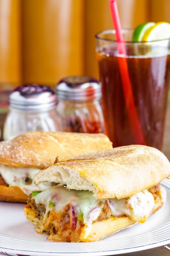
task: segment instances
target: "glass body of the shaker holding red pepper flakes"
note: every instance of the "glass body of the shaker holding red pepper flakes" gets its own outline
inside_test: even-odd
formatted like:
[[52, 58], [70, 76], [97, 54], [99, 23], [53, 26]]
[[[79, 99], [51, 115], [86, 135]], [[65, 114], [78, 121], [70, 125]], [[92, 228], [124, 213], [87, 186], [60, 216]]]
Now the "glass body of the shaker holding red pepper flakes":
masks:
[[66, 132], [104, 132], [104, 118], [99, 100], [67, 101], [60, 99], [57, 115]]

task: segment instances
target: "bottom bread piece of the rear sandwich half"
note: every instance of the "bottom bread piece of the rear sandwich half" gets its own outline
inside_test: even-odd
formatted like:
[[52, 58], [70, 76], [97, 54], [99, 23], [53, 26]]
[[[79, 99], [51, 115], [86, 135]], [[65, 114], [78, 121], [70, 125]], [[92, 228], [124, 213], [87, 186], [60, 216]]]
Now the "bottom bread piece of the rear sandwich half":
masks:
[[26, 195], [18, 186], [0, 185], [0, 201], [26, 203]]

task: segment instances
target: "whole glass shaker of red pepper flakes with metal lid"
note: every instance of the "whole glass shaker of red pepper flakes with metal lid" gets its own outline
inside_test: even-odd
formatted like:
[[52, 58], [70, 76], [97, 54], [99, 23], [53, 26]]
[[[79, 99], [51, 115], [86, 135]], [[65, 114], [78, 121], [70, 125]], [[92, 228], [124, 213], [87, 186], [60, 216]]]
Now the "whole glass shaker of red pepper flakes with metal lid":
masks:
[[68, 76], [56, 85], [57, 114], [66, 132], [104, 132], [101, 85], [90, 76]]

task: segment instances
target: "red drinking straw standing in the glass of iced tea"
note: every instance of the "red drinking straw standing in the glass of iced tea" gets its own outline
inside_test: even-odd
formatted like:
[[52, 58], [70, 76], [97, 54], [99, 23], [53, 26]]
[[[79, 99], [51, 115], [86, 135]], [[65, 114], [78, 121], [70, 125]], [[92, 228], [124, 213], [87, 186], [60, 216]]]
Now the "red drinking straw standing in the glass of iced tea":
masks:
[[[126, 55], [126, 49], [123, 43], [124, 38], [121, 33], [121, 23], [120, 23], [116, 0], [110, 0], [109, 5], [110, 5], [110, 11], [111, 11], [112, 20], [113, 20], [113, 25], [116, 31], [118, 53]], [[124, 97], [126, 101], [126, 108], [128, 110], [128, 116], [130, 119], [130, 124], [132, 128], [132, 133], [135, 139], [135, 143], [146, 145], [144, 135], [141, 130], [141, 124], [139, 122], [137, 110], [134, 103], [132, 85], [130, 83], [130, 77], [128, 73], [128, 65], [126, 62], [126, 58], [118, 58], [118, 61], [119, 61], [119, 69], [121, 74], [121, 82], [123, 85]]]

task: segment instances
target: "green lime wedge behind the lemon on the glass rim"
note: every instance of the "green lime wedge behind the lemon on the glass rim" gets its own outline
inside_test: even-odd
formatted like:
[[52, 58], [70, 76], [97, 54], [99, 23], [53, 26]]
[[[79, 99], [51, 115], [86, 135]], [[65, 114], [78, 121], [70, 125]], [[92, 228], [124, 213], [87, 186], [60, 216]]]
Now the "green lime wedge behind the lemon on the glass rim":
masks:
[[146, 22], [136, 27], [132, 35], [132, 41], [141, 41], [148, 29], [155, 26], [155, 22]]

